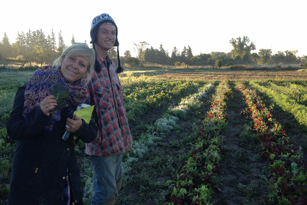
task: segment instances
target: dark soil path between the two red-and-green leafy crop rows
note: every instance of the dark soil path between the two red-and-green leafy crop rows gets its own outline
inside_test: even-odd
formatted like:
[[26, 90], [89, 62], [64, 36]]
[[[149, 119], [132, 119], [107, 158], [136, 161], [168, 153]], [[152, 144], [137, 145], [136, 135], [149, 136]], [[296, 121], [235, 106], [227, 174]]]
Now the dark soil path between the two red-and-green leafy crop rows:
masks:
[[240, 139], [240, 135], [250, 125], [250, 119], [240, 115], [246, 105], [242, 94], [235, 91], [233, 84], [231, 85], [233, 99], [228, 102], [228, 126], [223, 132], [226, 155], [220, 165], [220, 192], [216, 191], [214, 198], [217, 204], [264, 204], [259, 201], [266, 193], [259, 177], [264, 164], [258, 157], [258, 149], [255, 149], [259, 142], [246, 143]]

